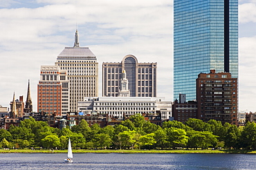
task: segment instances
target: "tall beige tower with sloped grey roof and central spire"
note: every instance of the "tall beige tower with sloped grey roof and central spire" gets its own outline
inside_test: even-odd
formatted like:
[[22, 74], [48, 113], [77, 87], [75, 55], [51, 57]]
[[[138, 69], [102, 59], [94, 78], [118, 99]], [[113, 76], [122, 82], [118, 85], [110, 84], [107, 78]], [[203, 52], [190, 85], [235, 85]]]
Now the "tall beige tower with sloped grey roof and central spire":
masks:
[[55, 66], [66, 70], [69, 81], [69, 111], [77, 111], [77, 102], [84, 97], [98, 96], [98, 62], [88, 47], [80, 47], [75, 32], [73, 47], [65, 47], [57, 56]]

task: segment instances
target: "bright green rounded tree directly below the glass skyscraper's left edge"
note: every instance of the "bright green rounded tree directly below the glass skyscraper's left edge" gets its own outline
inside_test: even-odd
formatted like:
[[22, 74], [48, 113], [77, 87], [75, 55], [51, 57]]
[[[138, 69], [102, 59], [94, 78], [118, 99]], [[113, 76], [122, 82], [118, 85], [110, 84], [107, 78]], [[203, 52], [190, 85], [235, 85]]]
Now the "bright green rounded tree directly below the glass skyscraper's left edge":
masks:
[[168, 128], [166, 132], [170, 147], [184, 147], [188, 143], [188, 136], [184, 129]]

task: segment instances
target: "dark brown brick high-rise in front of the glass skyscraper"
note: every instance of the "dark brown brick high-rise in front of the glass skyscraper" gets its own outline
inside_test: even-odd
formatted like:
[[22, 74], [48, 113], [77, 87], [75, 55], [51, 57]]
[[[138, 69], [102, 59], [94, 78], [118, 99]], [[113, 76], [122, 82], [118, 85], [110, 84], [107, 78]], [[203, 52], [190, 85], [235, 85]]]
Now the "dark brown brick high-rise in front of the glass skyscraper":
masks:
[[237, 78], [230, 73], [200, 73], [196, 79], [197, 118], [237, 124]]

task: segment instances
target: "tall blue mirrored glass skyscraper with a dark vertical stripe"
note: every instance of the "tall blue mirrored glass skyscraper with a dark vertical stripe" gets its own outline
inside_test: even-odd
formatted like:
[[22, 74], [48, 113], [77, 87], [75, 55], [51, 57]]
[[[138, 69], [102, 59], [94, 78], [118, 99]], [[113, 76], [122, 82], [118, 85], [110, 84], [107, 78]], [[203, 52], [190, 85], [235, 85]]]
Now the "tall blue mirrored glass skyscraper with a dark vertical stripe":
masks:
[[174, 0], [174, 100], [210, 70], [238, 78], [238, 0]]

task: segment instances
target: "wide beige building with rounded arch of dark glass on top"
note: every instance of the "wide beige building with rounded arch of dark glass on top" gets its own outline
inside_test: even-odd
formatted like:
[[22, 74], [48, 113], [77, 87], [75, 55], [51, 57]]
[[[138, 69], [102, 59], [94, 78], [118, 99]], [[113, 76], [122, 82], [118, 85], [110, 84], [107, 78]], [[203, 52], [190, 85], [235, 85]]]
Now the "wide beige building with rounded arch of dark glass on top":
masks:
[[102, 96], [117, 97], [122, 90], [125, 70], [130, 97], [156, 97], [156, 63], [138, 63], [134, 55], [126, 55], [121, 63], [102, 64]]

